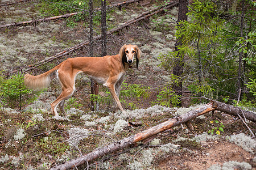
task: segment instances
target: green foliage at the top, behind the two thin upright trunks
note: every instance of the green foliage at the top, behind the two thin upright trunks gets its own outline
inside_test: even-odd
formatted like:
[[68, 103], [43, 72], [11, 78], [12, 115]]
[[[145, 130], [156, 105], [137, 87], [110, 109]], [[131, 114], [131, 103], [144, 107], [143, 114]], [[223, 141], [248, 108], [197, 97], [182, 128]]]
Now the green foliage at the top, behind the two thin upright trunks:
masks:
[[[68, 27], [74, 27], [77, 25], [77, 22], [83, 20], [84, 22], [88, 21], [89, 18], [89, 1], [88, 0], [75, 0], [75, 1], [42, 1], [38, 5], [38, 10], [42, 17], [47, 16], [57, 16], [63, 14], [69, 14], [73, 12], [79, 12], [77, 15], [71, 16], [67, 19]], [[94, 6], [100, 5], [100, 1], [94, 1]], [[100, 11], [94, 11], [93, 22], [95, 24], [100, 24], [101, 15]]]

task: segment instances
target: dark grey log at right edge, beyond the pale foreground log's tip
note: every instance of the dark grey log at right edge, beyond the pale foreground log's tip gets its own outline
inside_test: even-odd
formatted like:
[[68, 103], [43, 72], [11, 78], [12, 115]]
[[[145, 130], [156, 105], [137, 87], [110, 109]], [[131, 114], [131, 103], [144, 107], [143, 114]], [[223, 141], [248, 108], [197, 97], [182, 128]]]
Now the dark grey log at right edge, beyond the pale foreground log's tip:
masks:
[[234, 116], [238, 116], [238, 114], [242, 118], [246, 118], [247, 120], [256, 122], [256, 113], [251, 111], [245, 111], [241, 108], [234, 107], [233, 105], [221, 103], [220, 101], [212, 101], [216, 107], [216, 110], [225, 112]]

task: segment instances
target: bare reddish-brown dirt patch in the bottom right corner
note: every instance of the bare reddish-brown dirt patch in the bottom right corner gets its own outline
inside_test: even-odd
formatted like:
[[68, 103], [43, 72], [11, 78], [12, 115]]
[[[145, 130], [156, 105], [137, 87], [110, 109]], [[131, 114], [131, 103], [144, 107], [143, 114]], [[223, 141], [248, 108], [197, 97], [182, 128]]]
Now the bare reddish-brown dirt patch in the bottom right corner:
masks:
[[[243, 148], [226, 141], [202, 142], [204, 150], [188, 154], [187, 152], [179, 156], [170, 156], [170, 158], [159, 162], [160, 169], [207, 169], [213, 164], [223, 165], [224, 162], [237, 161], [248, 162], [254, 165], [251, 160], [254, 158]], [[236, 168], [234, 168], [236, 169]]]

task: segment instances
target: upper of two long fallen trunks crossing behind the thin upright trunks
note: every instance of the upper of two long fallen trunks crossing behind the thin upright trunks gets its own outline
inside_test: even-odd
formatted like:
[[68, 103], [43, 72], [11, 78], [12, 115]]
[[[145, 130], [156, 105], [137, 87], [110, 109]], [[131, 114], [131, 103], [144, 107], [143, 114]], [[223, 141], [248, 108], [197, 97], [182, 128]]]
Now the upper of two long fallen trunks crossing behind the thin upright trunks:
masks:
[[[28, 1], [28, 0], [26, 0]], [[108, 6], [107, 8], [112, 8], [112, 7], [120, 7], [123, 5], [128, 5], [129, 3], [134, 3], [134, 2], [138, 2], [138, 1], [142, 1], [142, 0], [130, 0], [130, 1], [125, 1], [125, 2], [121, 2], [121, 3], [115, 3], [112, 6]], [[101, 10], [101, 8], [96, 8], [94, 9], [94, 11], [99, 11]], [[81, 12], [73, 12], [70, 14], [64, 14], [64, 15], [59, 15], [59, 16], [52, 16], [49, 18], [43, 18], [43, 19], [34, 19], [34, 20], [28, 20], [25, 22], [18, 22], [18, 23], [11, 23], [11, 24], [5, 24], [5, 25], [0, 25], [0, 28], [5, 28], [5, 27], [11, 27], [11, 26], [19, 26], [19, 25], [28, 25], [28, 24], [34, 24], [34, 23], [39, 23], [39, 22], [46, 22], [49, 20], [55, 20], [55, 19], [60, 19], [60, 18], [68, 18], [77, 14], [84, 14], [84, 11]]]

